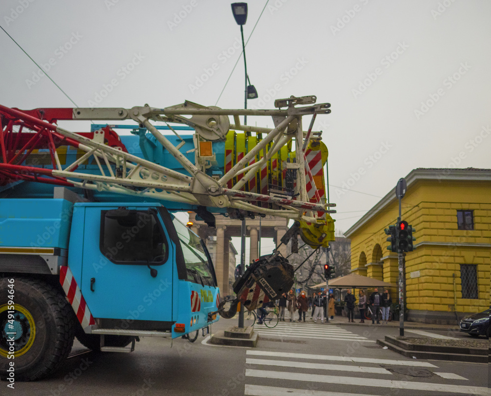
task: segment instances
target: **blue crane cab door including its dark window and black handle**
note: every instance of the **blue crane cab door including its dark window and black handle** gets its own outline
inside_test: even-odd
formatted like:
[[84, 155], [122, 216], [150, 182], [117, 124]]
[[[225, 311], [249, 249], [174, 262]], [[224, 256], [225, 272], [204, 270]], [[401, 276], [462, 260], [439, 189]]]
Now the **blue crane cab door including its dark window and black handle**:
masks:
[[83, 234], [81, 289], [94, 317], [172, 320], [173, 245], [156, 209], [87, 206]]

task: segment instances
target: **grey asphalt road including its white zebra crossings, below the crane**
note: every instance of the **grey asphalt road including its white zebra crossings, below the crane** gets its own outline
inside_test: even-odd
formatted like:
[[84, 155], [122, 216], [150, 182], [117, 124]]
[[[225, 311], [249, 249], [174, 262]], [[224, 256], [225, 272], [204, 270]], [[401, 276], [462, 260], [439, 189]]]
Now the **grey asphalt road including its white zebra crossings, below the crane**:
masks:
[[[234, 324], [221, 319], [212, 331]], [[399, 335], [395, 327], [307, 321], [256, 330], [256, 348], [215, 346], [201, 335], [195, 343], [144, 338], [133, 353], [83, 353], [76, 342], [73, 353], [82, 354], [55, 375], [16, 382], [14, 390], [1, 382], [0, 395], [491, 395], [488, 365], [410, 359], [382, 349], [375, 341]]]

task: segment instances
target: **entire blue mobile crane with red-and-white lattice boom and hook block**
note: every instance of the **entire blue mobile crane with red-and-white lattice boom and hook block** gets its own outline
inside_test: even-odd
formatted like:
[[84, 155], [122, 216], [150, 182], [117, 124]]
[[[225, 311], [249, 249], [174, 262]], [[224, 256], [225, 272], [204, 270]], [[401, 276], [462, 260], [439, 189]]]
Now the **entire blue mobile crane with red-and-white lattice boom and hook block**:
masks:
[[[326, 202], [327, 148], [311, 130], [330, 105], [315, 101], [292, 96], [276, 110], [0, 105], [0, 377], [49, 375], [75, 336], [91, 349], [132, 351], [138, 337], [204, 333], [239, 301], [251, 310], [289, 290], [293, 267], [275, 250], [236, 282], [224, 311], [204, 242], [172, 211], [195, 211], [211, 227], [213, 213], [291, 218], [305, 243], [327, 246], [335, 205]], [[272, 116], [274, 128], [241, 125], [239, 115]], [[133, 135], [57, 126], [125, 119], [136, 121]]]

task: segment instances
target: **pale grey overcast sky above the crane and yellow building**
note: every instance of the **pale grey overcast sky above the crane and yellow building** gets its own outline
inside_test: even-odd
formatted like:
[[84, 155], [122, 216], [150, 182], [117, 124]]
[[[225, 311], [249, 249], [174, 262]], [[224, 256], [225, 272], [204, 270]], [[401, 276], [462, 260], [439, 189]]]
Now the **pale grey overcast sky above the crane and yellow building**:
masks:
[[[490, 168], [491, 1], [270, 0], [248, 9], [247, 71], [259, 93], [248, 107], [291, 95], [331, 104], [314, 130], [329, 150], [337, 231], [414, 168]], [[79, 107], [244, 106], [229, 2], [2, 0], [0, 18]], [[2, 105], [74, 107], [3, 31], [0, 48]]]

